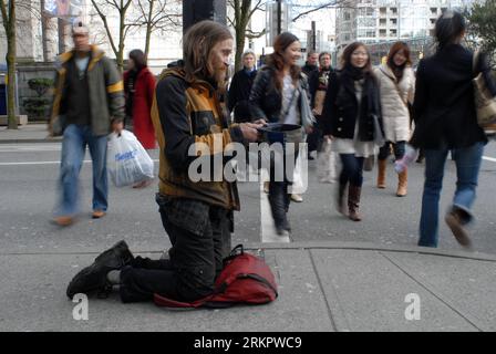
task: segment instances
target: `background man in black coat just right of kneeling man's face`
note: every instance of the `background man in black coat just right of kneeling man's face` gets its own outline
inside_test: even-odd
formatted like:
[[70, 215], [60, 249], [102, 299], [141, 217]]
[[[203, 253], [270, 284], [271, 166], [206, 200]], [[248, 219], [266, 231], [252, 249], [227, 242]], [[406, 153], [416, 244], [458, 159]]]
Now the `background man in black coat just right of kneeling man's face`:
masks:
[[230, 83], [227, 100], [229, 112], [234, 111], [235, 123], [251, 122], [249, 98], [251, 86], [257, 76], [255, 63], [257, 58], [252, 51], [242, 54], [242, 70], [238, 71]]

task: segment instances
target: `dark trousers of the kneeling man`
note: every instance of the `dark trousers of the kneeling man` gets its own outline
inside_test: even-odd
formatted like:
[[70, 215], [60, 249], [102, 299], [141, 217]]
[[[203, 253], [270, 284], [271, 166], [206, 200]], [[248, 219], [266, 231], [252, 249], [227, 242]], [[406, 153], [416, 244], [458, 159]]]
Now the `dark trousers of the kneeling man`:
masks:
[[170, 260], [138, 257], [123, 268], [122, 301], [151, 301], [155, 293], [185, 302], [209, 295], [230, 251], [231, 211], [164, 196], [157, 196], [157, 202], [173, 243]]

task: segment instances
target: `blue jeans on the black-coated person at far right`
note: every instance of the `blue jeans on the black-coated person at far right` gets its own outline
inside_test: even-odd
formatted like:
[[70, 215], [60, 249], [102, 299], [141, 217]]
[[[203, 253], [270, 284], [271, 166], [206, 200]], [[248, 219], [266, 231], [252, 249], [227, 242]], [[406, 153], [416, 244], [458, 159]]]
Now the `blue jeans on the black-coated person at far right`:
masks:
[[[472, 221], [472, 205], [478, 183], [484, 144], [452, 150], [456, 163], [456, 191], [453, 207], [463, 210], [464, 223]], [[421, 238], [418, 246], [437, 247], [440, 195], [443, 187], [444, 165], [448, 149], [425, 149], [425, 184], [422, 198]]]

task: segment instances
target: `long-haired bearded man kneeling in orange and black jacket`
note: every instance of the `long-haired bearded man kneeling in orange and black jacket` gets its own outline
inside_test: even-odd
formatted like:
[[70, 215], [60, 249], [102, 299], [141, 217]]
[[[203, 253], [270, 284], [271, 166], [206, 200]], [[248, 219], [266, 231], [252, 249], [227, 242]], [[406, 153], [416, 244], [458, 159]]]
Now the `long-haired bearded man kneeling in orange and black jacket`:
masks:
[[193, 164], [200, 152], [217, 176], [217, 155], [221, 158], [230, 143], [257, 142], [261, 125], [229, 127], [220, 108], [218, 91], [234, 44], [229, 30], [203, 21], [188, 30], [183, 43], [184, 65], [162, 74], [152, 107], [161, 155], [156, 201], [173, 246], [169, 260], [134, 258], [124, 242], [117, 243], [74, 278], [68, 288], [70, 298], [112, 285], [121, 285], [123, 302], [151, 301], [154, 294], [193, 302], [214, 291], [228, 256], [239, 198], [236, 185], [223, 174], [223, 164], [219, 181], [209, 177], [196, 181]]

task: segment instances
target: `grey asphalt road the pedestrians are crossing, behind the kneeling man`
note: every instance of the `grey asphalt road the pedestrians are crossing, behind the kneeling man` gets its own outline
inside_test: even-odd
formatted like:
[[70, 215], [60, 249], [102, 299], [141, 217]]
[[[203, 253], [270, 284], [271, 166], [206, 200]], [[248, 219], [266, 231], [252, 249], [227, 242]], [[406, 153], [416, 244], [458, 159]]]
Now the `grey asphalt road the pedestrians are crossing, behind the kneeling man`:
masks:
[[[496, 253], [495, 187], [496, 143], [485, 152], [478, 198], [471, 227], [476, 251]], [[157, 152], [153, 152], [157, 158]], [[89, 156], [86, 156], [89, 159]], [[59, 228], [50, 222], [55, 204], [60, 144], [0, 145], [0, 249], [2, 253], [59, 253], [101, 251], [120, 239], [132, 249], [156, 251], [169, 246], [154, 197], [156, 185], [146, 189], [111, 186], [108, 215], [91, 219], [91, 164], [81, 171], [81, 214], [79, 222]], [[317, 183], [316, 162], [309, 163], [310, 186], [302, 204], [292, 204], [293, 232], [280, 242], [366, 241], [382, 244], [414, 246], [422, 199], [423, 165], [410, 169], [409, 196], [395, 197], [396, 176], [388, 173], [388, 189], [374, 187], [376, 171], [365, 173], [362, 222], [339, 216], [333, 206], [335, 185]], [[448, 162], [441, 210], [446, 210], [455, 189], [455, 167]], [[242, 209], [236, 215], [232, 243], [275, 241], [267, 201], [258, 183], [239, 184]], [[459, 250], [444, 222], [440, 248]]]

